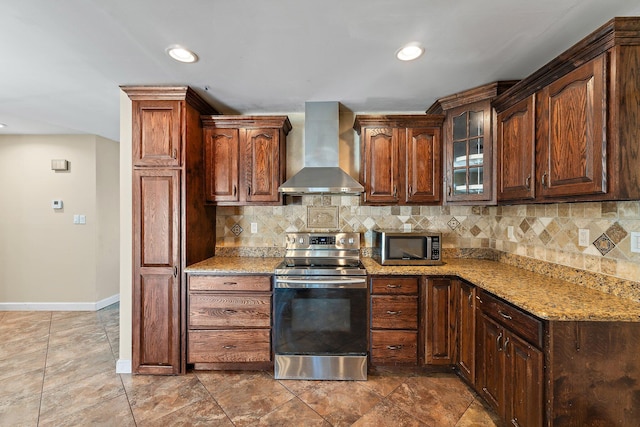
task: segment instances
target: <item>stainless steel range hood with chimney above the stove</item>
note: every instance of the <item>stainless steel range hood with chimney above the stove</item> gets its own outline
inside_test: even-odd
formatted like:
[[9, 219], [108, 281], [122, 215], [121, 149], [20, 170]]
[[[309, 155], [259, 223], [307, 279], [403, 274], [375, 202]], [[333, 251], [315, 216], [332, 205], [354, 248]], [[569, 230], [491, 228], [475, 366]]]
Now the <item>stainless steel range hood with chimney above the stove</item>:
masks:
[[360, 194], [364, 187], [340, 169], [340, 104], [306, 102], [303, 168], [282, 184], [284, 194]]

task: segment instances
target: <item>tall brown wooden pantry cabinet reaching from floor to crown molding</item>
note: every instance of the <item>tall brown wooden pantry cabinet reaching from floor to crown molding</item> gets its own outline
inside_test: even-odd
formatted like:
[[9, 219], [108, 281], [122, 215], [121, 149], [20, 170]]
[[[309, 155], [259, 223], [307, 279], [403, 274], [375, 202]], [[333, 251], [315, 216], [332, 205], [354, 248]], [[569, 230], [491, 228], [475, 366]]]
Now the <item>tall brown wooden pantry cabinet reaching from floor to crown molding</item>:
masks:
[[133, 110], [132, 371], [186, 369], [184, 268], [213, 256], [215, 208], [204, 200], [201, 114], [187, 86], [125, 86]]

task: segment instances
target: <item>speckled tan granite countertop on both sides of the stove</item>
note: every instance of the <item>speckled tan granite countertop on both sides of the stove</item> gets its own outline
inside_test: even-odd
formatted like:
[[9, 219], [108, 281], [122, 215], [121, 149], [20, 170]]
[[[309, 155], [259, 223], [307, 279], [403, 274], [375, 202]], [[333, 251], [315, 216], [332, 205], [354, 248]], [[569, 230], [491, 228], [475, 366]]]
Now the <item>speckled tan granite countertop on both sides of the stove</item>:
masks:
[[[282, 258], [212, 257], [190, 274], [273, 274]], [[640, 322], [640, 303], [508, 264], [455, 258], [439, 266], [382, 266], [362, 258], [371, 275], [457, 276], [546, 320]]]

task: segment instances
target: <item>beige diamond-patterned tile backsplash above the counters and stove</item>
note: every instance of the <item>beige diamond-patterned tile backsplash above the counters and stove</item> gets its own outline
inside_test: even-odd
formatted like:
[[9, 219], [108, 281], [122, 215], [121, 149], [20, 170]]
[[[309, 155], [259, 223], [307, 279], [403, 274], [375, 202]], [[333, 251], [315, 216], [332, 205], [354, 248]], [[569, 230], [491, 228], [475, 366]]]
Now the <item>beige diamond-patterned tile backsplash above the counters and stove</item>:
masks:
[[[640, 253], [631, 252], [630, 233], [640, 232], [640, 201], [560, 203], [514, 206], [360, 206], [355, 196], [296, 196], [275, 207], [218, 207], [217, 243], [224, 248], [284, 247], [284, 235], [295, 231], [356, 231], [371, 246], [371, 229], [434, 230], [443, 234], [447, 253], [460, 249], [493, 249], [572, 269], [640, 282]], [[308, 209], [318, 207], [317, 209]], [[327, 208], [326, 210], [323, 207]], [[311, 214], [310, 214], [311, 212]], [[336, 228], [318, 228], [333, 221]], [[309, 215], [317, 218], [309, 218]], [[234, 226], [258, 232], [236, 235]], [[313, 228], [310, 228], [310, 224]], [[509, 237], [513, 227], [513, 237]], [[587, 246], [579, 230], [588, 230]], [[276, 251], [277, 252], [277, 251]]]

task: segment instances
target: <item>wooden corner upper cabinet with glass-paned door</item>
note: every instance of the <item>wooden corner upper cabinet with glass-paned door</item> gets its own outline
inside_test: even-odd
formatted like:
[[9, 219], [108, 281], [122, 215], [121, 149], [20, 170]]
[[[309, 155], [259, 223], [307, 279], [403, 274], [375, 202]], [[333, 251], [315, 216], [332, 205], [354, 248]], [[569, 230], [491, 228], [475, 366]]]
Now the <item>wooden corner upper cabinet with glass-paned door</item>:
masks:
[[496, 202], [491, 100], [515, 82], [499, 81], [437, 100], [428, 114], [445, 114], [443, 127], [444, 201], [447, 204]]

